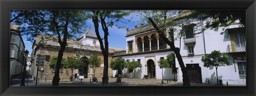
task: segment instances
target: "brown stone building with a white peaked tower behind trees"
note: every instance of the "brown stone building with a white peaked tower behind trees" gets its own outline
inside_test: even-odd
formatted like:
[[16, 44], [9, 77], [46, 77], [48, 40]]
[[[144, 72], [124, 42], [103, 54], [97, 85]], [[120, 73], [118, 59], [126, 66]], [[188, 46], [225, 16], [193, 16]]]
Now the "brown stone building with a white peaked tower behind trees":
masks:
[[[94, 33], [94, 34], [93, 34]], [[79, 57], [84, 59], [89, 59], [93, 55], [97, 55], [101, 59], [100, 67], [95, 70], [95, 77], [101, 78], [103, 76], [103, 55], [99, 47], [99, 41], [95, 37], [95, 32], [90, 28], [86, 31], [78, 40], [67, 40], [67, 47], [63, 53], [63, 58], [68, 57]], [[36, 77], [37, 66], [36, 57], [37, 55], [45, 55], [44, 66], [39, 66], [39, 69], [44, 68], [44, 71], [38, 72], [38, 78], [43, 78], [46, 80], [52, 80], [54, 76], [54, 68], [50, 68], [50, 59], [52, 56], [58, 56], [60, 45], [58, 43], [58, 38], [49, 37], [44, 35], [38, 35], [33, 43], [33, 53], [31, 54], [31, 74]], [[119, 49], [109, 48], [109, 63], [114, 55], [114, 52]], [[109, 68], [108, 76], [112, 76], [112, 70]], [[42, 75], [41, 75], [42, 74]], [[46, 76], [47, 75], [47, 76]], [[77, 75], [82, 75], [84, 78], [91, 78], [93, 76], [93, 69], [89, 67], [87, 62], [84, 62], [82, 70], [75, 69], [73, 71], [73, 77]], [[60, 69], [61, 80], [69, 80], [71, 77], [71, 69]]]

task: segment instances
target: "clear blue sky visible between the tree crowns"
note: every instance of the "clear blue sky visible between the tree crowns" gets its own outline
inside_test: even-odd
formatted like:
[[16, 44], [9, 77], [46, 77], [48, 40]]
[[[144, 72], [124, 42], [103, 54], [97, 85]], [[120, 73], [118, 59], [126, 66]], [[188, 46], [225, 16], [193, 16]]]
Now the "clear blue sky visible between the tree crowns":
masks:
[[[123, 29], [118, 29], [117, 27], [109, 27], [109, 36], [108, 36], [108, 42], [109, 42], [109, 47], [114, 47], [114, 48], [120, 48], [120, 49], [125, 49], [126, 47], [126, 27], [128, 26], [129, 29], [134, 29], [135, 22], [137, 22], [138, 27], [140, 27], [140, 16], [137, 16], [135, 14], [130, 14], [129, 16], [125, 16], [124, 19], [131, 20], [130, 22], [127, 21], [127, 23], [122, 23], [118, 22], [118, 25], [121, 25], [122, 27], [125, 27]], [[87, 20], [87, 26], [92, 27], [94, 30], [94, 25], [92, 20]], [[88, 28], [86, 28], [88, 29]], [[103, 37], [103, 31], [101, 26], [99, 27], [100, 30], [100, 35]], [[25, 50], [29, 51], [29, 54], [32, 52], [32, 45], [33, 43], [30, 41], [27, 41], [26, 36], [22, 36], [22, 39], [25, 43]]]

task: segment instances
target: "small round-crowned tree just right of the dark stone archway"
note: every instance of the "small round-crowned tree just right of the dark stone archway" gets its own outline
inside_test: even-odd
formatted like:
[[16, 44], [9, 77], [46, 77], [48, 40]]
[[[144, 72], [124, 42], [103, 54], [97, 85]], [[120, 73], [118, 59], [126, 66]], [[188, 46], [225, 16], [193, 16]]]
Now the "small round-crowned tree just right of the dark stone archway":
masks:
[[100, 66], [100, 58], [98, 56], [91, 56], [88, 59], [89, 66], [93, 69], [93, 77], [95, 77], [95, 69]]

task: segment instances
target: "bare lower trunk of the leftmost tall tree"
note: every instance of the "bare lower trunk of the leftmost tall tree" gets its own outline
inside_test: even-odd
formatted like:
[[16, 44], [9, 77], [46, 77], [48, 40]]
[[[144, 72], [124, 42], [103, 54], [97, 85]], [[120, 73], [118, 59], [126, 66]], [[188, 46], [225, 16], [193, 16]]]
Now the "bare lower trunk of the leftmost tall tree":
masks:
[[66, 48], [66, 46], [62, 46], [59, 50], [57, 65], [55, 66], [55, 73], [54, 73], [53, 80], [52, 80], [52, 86], [59, 86], [60, 65], [61, 65], [61, 60], [62, 60], [63, 53], [65, 51], [65, 48]]

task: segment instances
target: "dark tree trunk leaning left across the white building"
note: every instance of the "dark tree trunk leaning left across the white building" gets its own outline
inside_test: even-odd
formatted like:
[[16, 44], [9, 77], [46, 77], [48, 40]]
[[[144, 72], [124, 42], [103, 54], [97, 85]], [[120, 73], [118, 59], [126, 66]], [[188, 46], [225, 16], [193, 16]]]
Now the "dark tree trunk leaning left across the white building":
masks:
[[157, 25], [155, 24], [155, 22], [151, 19], [151, 18], [148, 18], [148, 20], [151, 22], [151, 24], [153, 25], [153, 27], [155, 28], [155, 30], [157, 31], [157, 33], [159, 34], [159, 36], [161, 38], [163, 38], [163, 40], [167, 43], [167, 45], [169, 45], [171, 47], [171, 49], [174, 51], [177, 59], [178, 59], [178, 62], [179, 62], [179, 65], [181, 67], [181, 72], [182, 72], [182, 81], [183, 81], [183, 86], [190, 86], [190, 81], [189, 81], [189, 78], [188, 78], [188, 74], [187, 74], [187, 69], [183, 63], [183, 60], [182, 60], [182, 57], [180, 55], [180, 49], [178, 47], [175, 47], [174, 46], [174, 42], [171, 42], [168, 38], [166, 38], [164, 36], [164, 32], [161, 31]]

